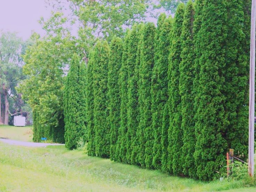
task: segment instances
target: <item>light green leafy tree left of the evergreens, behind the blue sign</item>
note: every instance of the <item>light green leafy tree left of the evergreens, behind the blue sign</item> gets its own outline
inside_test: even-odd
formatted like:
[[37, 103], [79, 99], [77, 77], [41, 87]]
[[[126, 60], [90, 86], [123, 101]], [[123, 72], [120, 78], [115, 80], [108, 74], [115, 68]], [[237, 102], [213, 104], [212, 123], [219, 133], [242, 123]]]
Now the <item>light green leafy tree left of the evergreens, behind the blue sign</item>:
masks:
[[41, 137], [46, 137], [48, 141], [65, 142], [64, 69], [70, 64], [73, 53], [79, 51], [68, 32], [69, 29], [59, 27], [64, 22], [65, 19], [60, 13], [54, 14], [49, 21], [42, 22], [47, 35], [40, 38], [34, 33], [31, 37], [33, 43], [23, 55], [23, 73], [27, 79], [18, 88], [33, 112], [37, 112], [38, 125], [40, 124], [43, 130], [35, 132], [43, 134], [34, 135], [36, 142], [39, 142]]

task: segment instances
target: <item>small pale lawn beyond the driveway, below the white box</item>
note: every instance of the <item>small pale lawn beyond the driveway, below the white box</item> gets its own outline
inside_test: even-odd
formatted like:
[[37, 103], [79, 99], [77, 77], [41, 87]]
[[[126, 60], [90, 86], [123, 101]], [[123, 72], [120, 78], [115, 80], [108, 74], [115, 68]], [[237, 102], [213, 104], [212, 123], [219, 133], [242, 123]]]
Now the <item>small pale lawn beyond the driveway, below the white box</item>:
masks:
[[30, 141], [32, 142], [32, 126], [26, 127], [14, 127], [0, 125], [0, 137], [5, 137], [18, 141]]

